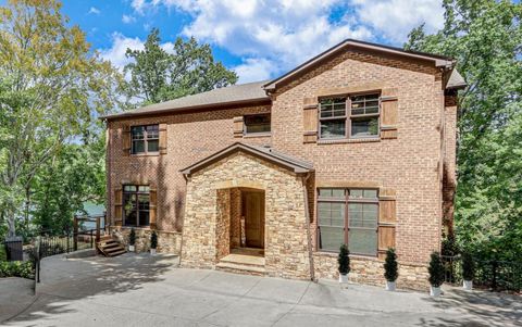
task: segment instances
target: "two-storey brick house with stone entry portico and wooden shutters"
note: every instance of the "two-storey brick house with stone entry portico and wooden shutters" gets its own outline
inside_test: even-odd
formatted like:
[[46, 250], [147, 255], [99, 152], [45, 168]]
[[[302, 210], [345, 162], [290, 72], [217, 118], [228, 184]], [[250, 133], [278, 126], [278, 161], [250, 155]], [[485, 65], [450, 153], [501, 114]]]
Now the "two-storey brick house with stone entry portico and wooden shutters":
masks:
[[109, 222], [181, 265], [427, 286], [452, 219], [458, 89], [450, 58], [356, 40], [269, 81], [103, 117]]

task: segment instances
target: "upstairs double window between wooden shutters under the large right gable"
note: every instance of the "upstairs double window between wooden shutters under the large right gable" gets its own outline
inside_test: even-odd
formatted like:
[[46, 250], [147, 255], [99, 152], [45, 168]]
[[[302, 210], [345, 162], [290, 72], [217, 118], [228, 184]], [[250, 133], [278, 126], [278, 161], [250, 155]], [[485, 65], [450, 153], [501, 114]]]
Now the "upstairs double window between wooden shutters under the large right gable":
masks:
[[[378, 95], [325, 98], [320, 102], [320, 138], [378, 136]], [[347, 110], [349, 108], [349, 110]]]

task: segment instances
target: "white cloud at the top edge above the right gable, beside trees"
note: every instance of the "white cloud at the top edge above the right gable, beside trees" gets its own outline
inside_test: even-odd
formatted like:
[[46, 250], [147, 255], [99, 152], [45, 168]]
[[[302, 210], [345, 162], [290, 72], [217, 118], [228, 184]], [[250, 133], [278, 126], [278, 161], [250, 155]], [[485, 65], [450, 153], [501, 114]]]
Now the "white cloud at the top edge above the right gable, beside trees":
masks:
[[438, 0], [352, 0], [359, 21], [394, 42], [403, 42], [408, 33], [422, 23], [428, 32], [444, 24]]

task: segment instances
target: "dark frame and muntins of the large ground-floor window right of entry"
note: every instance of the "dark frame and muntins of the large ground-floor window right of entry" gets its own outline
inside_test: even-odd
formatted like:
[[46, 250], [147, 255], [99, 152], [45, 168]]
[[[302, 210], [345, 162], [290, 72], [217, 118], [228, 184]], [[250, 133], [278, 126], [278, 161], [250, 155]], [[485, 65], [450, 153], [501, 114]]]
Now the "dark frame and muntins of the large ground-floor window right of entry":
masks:
[[[344, 190], [344, 198], [328, 198], [328, 197], [320, 197], [319, 196], [319, 190], [320, 189], [341, 189]], [[352, 199], [349, 196], [350, 190], [375, 190], [376, 191], [376, 197], [375, 198], [360, 198], [360, 199]], [[350, 203], [366, 203], [366, 204], [376, 204], [377, 205], [377, 222], [375, 224], [375, 228], [371, 227], [352, 227], [353, 229], [364, 229], [364, 230], [375, 230], [377, 235], [377, 244], [376, 244], [376, 251], [375, 255], [366, 254], [366, 253], [358, 253], [358, 252], [351, 252], [350, 250], [350, 255], [358, 255], [358, 256], [365, 256], [365, 257], [378, 257], [378, 211], [380, 211], [380, 201], [378, 201], [378, 188], [374, 187], [368, 187], [368, 188], [361, 188], [361, 187], [320, 187], [316, 188], [316, 197], [315, 197], [315, 251], [316, 252], [323, 252], [323, 253], [339, 253], [339, 250], [328, 250], [328, 249], [321, 249], [320, 248], [320, 238], [321, 238], [321, 225], [319, 224], [319, 203], [320, 202], [326, 202], [326, 203], [345, 203], [345, 223], [343, 227], [343, 235], [344, 235], [344, 243], [348, 246], [349, 242], [349, 230], [350, 230], [350, 213], [349, 213], [349, 204]], [[349, 246], [348, 246], [349, 249]]]

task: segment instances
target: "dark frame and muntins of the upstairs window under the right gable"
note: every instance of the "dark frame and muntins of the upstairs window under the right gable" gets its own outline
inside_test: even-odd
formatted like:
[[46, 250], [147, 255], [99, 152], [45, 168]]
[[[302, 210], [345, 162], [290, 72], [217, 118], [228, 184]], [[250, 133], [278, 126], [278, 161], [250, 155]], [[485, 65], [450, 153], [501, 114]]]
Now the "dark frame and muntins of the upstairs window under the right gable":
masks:
[[[352, 115], [351, 114], [351, 98], [352, 97], [364, 97], [364, 96], [372, 96], [376, 95], [377, 96], [377, 101], [378, 101], [378, 106], [377, 106], [377, 112], [376, 113], [371, 113], [371, 114], [359, 114], [359, 115]], [[345, 100], [345, 115], [344, 116], [338, 116], [338, 117], [321, 117], [321, 100], [322, 99], [332, 99], [332, 98], [346, 98]], [[381, 114], [382, 114], [382, 104], [381, 104], [381, 91], [365, 91], [365, 92], [360, 92], [360, 93], [349, 93], [349, 95], [336, 95], [336, 96], [331, 96], [331, 97], [321, 97], [319, 99], [319, 105], [318, 105], [318, 140], [360, 140], [360, 139], [380, 139], [381, 138]], [[377, 134], [376, 135], [369, 135], [369, 136], [358, 136], [358, 137], [352, 137], [351, 136], [351, 122], [352, 117], [355, 118], [361, 118], [361, 117], [377, 117]], [[321, 133], [321, 122], [322, 121], [341, 121], [345, 120], [345, 135], [344, 136], [338, 136], [338, 137], [323, 137]]]

